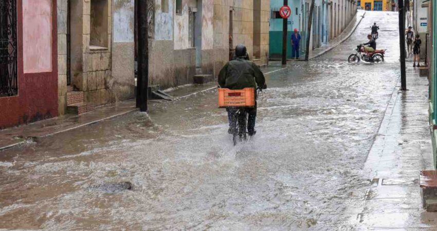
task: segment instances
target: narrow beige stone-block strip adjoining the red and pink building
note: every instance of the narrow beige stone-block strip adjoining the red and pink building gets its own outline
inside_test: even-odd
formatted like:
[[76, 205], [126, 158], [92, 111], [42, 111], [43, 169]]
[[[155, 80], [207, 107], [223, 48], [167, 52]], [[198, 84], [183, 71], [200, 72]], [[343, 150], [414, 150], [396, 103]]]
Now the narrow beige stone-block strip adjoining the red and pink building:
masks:
[[67, 108], [67, 10], [68, 0], [57, 0], [58, 11], [58, 113]]

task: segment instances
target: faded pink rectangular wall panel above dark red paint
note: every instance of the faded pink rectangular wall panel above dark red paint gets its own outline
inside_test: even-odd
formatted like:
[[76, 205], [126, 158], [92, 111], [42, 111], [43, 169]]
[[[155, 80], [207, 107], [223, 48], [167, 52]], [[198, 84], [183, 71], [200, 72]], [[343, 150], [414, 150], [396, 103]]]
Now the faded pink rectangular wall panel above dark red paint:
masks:
[[52, 71], [52, 0], [23, 0], [24, 73]]

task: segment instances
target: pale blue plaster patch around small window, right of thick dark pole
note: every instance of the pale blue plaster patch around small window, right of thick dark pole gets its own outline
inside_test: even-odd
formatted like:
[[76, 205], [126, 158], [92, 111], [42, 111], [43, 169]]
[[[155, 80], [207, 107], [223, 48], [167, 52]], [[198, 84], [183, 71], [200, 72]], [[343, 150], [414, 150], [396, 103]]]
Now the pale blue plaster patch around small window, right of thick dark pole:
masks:
[[155, 40], [173, 40], [174, 1], [169, 1], [169, 12], [162, 12], [161, 0], [155, 0]]

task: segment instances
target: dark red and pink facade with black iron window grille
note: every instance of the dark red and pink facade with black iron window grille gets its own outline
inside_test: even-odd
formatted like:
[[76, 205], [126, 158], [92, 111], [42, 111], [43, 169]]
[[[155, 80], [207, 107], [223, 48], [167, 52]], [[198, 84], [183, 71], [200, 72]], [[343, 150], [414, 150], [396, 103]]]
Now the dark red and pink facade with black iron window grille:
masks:
[[56, 9], [52, 0], [0, 2], [0, 129], [58, 115]]

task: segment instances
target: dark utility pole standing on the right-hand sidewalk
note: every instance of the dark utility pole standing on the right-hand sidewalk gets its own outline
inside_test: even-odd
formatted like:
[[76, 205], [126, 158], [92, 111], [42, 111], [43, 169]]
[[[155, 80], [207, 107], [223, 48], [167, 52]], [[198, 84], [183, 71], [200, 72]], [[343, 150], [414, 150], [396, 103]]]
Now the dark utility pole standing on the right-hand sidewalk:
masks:
[[407, 76], [405, 73], [405, 8], [404, 1], [398, 1], [399, 10], [399, 46], [400, 46], [400, 90], [407, 90]]

